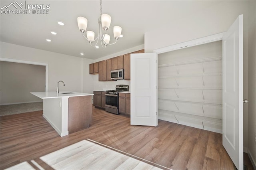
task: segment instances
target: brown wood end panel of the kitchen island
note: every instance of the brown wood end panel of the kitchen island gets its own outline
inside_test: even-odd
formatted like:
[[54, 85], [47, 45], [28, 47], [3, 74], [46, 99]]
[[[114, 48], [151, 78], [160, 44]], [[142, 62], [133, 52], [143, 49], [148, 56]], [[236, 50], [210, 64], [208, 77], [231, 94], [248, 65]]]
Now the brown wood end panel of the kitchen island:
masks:
[[68, 98], [68, 133], [90, 127], [92, 122], [92, 96]]

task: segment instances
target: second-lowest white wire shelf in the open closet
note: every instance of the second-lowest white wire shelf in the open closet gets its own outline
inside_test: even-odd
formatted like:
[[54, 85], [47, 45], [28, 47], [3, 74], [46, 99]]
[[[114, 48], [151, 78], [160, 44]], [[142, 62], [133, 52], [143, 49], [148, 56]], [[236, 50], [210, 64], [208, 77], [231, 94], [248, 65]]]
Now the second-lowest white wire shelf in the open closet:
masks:
[[204, 102], [204, 101], [187, 101], [183, 99], [160, 99], [158, 98], [158, 101], [164, 101], [166, 103], [169, 102], [180, 102], [180, 103], [188, 103], [188, 104], [194, 104], [194, 105], [204, 105], [204, 106], [210, 106], [210, 107], [218, 107], [222, 108], [222, 103], [212, 103], [212, 102]]

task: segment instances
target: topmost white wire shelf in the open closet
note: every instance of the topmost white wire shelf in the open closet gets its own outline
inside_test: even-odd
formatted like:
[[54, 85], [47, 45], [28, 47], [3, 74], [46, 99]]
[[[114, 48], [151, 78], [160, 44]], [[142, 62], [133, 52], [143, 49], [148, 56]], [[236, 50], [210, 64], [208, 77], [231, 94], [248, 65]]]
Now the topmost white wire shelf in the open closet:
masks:
[[192, 61], [182, 61], [182, 62], [177, 62], [177, 63], [160, 64], [160, 65], [158, 65], [158, 67], [170, 67], [170, 66], [194, 64], [194, 63], [202, 63], [202, 62], [204, 63], [204, 62], [218, 61], [218, 60], [222, 60], [222, 56], [210, 57], [210, 58], [198, 59], [198, 60], [192, 60]]

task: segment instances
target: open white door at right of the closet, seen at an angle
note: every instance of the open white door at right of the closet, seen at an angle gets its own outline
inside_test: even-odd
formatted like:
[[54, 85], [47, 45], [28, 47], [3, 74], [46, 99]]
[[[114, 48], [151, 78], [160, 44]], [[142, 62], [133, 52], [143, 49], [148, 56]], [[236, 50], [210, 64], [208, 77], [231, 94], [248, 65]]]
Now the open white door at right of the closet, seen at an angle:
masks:
[[243, 169], [243, 15], [223, 38], [222, 143], [238, 170]]

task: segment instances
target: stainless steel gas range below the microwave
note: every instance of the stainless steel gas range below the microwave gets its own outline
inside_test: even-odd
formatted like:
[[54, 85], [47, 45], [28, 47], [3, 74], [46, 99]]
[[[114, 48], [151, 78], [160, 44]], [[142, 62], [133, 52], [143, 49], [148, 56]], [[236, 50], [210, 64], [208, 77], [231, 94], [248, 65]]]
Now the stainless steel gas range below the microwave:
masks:
[[118, 111], [118, 92], [129, 91], [129, 85], [116, 85], [115, 90], [106, 91], [106, 111], [119, 115]]

